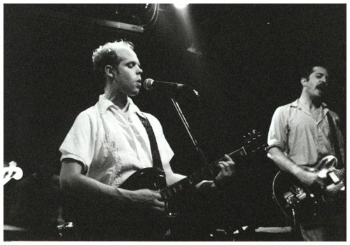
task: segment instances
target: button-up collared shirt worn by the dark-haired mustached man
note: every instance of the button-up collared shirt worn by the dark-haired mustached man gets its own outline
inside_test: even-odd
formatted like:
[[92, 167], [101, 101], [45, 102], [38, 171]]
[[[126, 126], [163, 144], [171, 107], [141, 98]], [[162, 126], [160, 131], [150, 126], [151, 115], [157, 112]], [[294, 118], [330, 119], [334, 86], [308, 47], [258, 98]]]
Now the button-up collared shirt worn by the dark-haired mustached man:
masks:
[[280, 148], [297, 165], [312, 165], [325, 155], [335, 155], [326, 113], [330, 113], [335, 122], [344, 162], [344, 141], [338, 127], [339, 117], [324, 103], [318, 118], [314, 118], [299, 99], [277, 108], [267, 137], [268, 149]]

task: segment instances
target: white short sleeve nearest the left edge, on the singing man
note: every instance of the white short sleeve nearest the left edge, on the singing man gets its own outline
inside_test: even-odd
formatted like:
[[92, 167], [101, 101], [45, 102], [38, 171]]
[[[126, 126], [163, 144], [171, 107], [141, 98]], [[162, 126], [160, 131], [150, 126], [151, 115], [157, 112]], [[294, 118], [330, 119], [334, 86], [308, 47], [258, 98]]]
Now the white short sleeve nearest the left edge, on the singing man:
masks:
[[83, 162], [85, 170], [92, 162], [94, 150], [94, 134], [92, 123], [86, 113], [80, 113], [66, 135], [59, 151], [62, 153], [61, 161], [64, 158], [72, 158]]

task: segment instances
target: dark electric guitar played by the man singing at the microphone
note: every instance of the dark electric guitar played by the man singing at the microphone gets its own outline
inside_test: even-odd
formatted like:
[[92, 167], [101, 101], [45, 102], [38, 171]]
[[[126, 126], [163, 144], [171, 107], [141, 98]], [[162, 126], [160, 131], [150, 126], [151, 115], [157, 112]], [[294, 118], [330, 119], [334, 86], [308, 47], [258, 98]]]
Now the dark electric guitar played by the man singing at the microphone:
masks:
[[[262, 149], [264, 144], [261, 144], [260, 141], [260, 132], [253, 130], [248, 133], [248, 136], [244, 137], [244, 145], [228, 155], [237, 163], [241, 158], [256, 153], [258, 150]], [[167, 216], [170, 218], [176, 217], [179, 209], [179, 205], [176, 205], [176, 198], [181, 196], [181, 193], [186, 192], [186, 190], [193, 188], [197, 183], [200, 183], [200, 181], [204, 179], [214, 179], [221, 170], [220, 167], [218, 167], [218, 162], [223, 160], [224, 158], [221, 158], [171, 186], [167, 186], [165, 172], [162, 170], [154, 167], [140, 169], [132, 174], [121, 186], [119, 186], [119, 188], [127, 190], [139, 190], [144, 188], [160, 190], [162, 199], [165, 200]]]

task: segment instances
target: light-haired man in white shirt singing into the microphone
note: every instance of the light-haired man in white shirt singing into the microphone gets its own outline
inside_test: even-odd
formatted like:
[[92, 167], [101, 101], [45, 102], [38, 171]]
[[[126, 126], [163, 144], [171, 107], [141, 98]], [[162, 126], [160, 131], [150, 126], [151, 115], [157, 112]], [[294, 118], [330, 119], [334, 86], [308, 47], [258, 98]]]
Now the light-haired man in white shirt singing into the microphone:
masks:
[[[174, 153], [160, 122], [141, 112], [130, 98], [139, 94], [142, 74], [134, 45], [106, 43], [94, 50], [92, 63], [104, 82], [104, 94], [78, 115], [59, 148], [62, 192], [78, 200], [70, 206], [73, 222], [82, 240], [160, 240], [158, 228], [165, 224], [144, 225], [165, 216], [160, 191], [120, 185], [139, 169], [155, 166], [157, 155], [168, 186], [186, 176], [172, 172], [169, 162]], [[219, 166], [215, 182], [221, 186], [234, 173], [234, 162], [226, 155]], [[196, 187], [215, 189], [216, 184], [202, 181]]]

